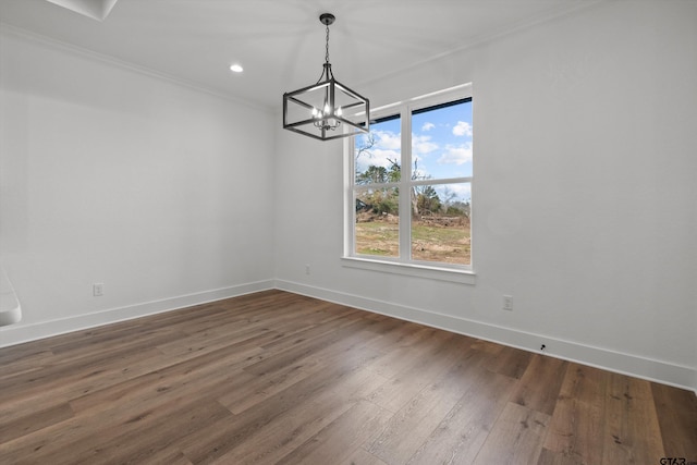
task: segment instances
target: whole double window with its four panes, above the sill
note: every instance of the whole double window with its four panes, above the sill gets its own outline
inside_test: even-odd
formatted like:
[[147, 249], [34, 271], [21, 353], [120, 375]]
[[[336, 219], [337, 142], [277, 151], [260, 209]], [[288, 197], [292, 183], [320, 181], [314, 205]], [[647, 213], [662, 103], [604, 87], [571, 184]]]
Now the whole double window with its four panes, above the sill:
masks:
[[372, 114], [346, 144], [346, 257], [470, 271], [470, 86]]

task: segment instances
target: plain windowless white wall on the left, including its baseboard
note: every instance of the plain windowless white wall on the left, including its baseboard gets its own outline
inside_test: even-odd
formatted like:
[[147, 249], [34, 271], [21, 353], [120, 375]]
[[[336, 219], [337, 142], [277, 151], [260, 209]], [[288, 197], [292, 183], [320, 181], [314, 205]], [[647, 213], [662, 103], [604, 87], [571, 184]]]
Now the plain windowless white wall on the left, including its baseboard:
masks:
[[0, 256], [23, 309], [0, 346], [273, 285], [269, 111], [10, 30], [0, 60]]

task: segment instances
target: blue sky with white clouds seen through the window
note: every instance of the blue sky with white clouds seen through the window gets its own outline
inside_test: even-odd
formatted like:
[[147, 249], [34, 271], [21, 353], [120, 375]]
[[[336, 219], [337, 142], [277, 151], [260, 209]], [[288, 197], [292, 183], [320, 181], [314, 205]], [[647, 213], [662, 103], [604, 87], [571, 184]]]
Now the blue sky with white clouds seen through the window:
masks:
[[[390, 167], [388, 159], [400, 160], [400, 120], [371, 124], [376, 146], [371, 156], [356, 160], [356, 172], [370, 164]], [[359, 136], [356, 145], [359, 146]], [[468, 178], [472, 172], [472, 101], [438, 108], [412, 117], [412, 157], [417, 162], [417, 174], [429, 179]], [[412, 164], [413, 167], [413, 164]], [[469, 198], [469, 185], [450, 185], [460, 199]]]

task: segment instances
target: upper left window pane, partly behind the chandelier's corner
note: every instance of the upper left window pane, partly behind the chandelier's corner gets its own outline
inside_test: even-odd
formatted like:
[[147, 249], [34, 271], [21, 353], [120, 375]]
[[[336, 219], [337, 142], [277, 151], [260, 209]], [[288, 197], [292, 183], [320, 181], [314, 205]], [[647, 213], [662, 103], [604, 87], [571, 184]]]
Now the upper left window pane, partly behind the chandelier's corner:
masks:
[[370, 133], [355, 139], [354, 161], [356, 184], [400, 181], [400, 117], [383, 118], [370, 123]]

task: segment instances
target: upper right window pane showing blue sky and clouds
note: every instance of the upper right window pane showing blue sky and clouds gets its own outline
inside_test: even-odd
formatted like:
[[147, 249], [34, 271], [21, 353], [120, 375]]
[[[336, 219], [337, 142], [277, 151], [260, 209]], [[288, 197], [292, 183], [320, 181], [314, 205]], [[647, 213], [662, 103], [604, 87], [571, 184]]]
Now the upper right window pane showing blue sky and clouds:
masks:
[[415, 180], [472, 176], [472, 99], [412, 114]]

